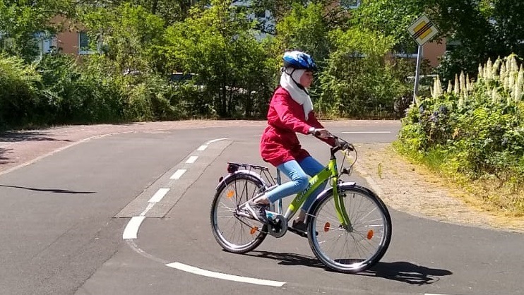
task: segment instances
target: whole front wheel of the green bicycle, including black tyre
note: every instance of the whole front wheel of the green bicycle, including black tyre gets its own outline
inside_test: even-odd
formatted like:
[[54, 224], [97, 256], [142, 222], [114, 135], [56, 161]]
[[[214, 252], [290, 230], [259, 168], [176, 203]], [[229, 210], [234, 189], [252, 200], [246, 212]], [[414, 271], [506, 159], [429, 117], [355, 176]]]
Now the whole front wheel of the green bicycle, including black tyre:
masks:
[[[382, 200], [367, 188], [338, 186], [311, 207], [308, 239], [318, 260], [338, 272], [355, 273], [379, 262], [391, 241], [391, 217]], [[350, 224], [341, 219], [344, 209]], [[311, 234], [314, 233], [314, 234]]]

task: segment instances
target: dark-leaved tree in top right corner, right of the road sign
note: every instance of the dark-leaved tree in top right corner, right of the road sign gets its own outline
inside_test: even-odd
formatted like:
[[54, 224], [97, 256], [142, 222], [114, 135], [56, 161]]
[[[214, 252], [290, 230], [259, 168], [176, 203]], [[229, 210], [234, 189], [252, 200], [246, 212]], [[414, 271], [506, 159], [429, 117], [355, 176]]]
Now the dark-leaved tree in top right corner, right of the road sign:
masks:
[[523, 8], [516, 0], [439, 0], [434, 18], [446, 37], [459, 43], [444, 56], [441, 76], [452, 79], [460, 71], [475, 76], [487, 59], [524, 56]]

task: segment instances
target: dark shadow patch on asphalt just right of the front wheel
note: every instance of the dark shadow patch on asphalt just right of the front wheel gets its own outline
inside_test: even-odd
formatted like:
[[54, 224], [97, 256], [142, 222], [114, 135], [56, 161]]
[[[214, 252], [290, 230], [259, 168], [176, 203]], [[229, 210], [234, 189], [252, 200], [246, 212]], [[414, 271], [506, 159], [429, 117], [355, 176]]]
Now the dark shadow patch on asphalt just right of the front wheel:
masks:
[[384, 279], [391, 279], [393, 281], [423, 285], [438, 282], [439, 277], [453, 275], [453, 272], [415, 265], [405, 261], [397, 261], [393, 263], [379, 262], [369, 270], [358, 273], [357, 275], [383, 277]]

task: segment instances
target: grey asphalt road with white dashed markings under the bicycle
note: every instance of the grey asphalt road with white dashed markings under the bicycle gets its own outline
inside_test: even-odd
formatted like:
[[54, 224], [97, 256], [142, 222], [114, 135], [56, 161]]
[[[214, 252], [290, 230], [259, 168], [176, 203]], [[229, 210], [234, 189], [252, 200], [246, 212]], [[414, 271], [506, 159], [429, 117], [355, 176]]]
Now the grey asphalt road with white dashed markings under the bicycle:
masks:
[[[330, 129], [372, 144], [398, 126]], [[291, 233], [245, 255], [222, 251], [209, 225], [215, 186], [228, 161], [264, 164], [262, 130], [116, 134], [0, 175], [0, 294], [523, 294], [523, 234], [391, 209], [388, 252], [357, 275], [326, 270]], [[301, 138], [328, 159], [325, 144]]]

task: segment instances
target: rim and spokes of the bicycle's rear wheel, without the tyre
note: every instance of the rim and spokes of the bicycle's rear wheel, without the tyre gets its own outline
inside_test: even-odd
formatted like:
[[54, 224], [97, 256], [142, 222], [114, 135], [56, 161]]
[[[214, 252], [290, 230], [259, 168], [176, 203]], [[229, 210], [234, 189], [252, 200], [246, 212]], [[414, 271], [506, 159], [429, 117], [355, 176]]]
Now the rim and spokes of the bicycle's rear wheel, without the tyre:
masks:
[[232, 181], [218, 195], [213, 210], [213, 227], [220, 243], [225, 248], [242, 250], [257, 242], [263, 225], [253, 219], [235, 215], [237, 207], [253, 198], [258, 192], [253, 181]]

